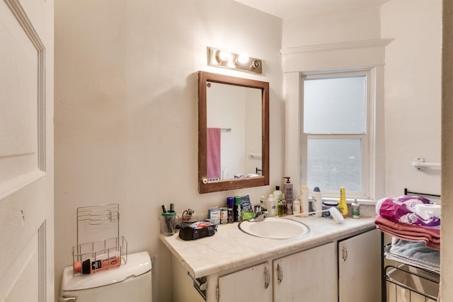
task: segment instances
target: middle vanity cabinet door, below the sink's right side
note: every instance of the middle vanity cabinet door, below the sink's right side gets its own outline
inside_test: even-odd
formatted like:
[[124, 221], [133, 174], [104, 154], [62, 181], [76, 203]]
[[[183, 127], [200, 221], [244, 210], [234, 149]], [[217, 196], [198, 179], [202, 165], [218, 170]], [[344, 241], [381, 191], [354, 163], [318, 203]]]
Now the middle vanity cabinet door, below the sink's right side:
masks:
[[336, 263], [335, 243], [274, 260], [274, 301], [338, 301]]

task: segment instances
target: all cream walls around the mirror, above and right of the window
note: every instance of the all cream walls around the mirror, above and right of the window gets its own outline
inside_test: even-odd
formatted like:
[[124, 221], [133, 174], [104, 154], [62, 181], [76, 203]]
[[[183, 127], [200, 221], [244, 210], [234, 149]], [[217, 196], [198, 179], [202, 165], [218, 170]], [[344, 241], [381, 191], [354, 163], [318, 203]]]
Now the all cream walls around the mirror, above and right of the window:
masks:
[[[440, 161], [440, 3], [391, 0], [380, 9], [282, 25], [229, 0], [57, 1], [56, 289], [71, 264], [77, 207], [120, 203], [121, 235], [130, 252], [155, 257], [154, 301], [165, 302], [170, 257], [158, 238], [160, 205], [200, 212], [233, 194], [258, 201], [281, 183], [280, 48], [394, 38], [386, 47], [386, 130], [379, 141], [386, 147], [385, 193], [440, 192], [439, 171], [411, 167], [418, 156]], [[207, 67], [207, 45], [264, 59], [263, 76]], [[270, 82], [270, 186], [197, 193], [197, 70]]]

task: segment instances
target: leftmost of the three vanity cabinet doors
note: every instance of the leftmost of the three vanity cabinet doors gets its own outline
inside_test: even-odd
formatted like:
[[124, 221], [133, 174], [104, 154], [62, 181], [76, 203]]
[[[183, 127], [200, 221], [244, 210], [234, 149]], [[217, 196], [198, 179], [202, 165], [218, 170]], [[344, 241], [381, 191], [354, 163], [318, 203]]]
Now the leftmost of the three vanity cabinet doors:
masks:
[[219, 302], [272, 301], [272, 270], [269, 262], [219, 277]]

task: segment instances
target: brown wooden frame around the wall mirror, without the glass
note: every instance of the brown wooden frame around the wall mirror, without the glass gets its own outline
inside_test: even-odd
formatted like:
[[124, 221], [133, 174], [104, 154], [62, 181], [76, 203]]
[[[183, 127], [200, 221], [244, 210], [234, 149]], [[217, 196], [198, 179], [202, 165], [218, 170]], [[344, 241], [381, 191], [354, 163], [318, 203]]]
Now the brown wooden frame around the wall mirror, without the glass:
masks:
[[[207, 82], [258, 88], [261, 90], [262, 170], [253, 178], [207, 181]], [[269, 83], [198, 71], [198, 192], [219, 192], [269, 185]]]

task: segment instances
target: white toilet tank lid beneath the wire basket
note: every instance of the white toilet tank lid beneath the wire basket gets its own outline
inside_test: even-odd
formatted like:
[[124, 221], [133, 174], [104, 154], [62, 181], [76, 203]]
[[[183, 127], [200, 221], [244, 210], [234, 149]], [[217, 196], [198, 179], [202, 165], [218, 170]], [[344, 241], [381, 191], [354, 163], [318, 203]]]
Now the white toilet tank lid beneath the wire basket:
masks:
[[93, 274], [74, 276], [73, 267], [66, 267], [62, 277], [62, 291], [81, 291], [115, 284], [130, 277], [139, 277], [149, 271], [151, 271], [151, 257], [148, 252], [127, 255], [125, 265]]

